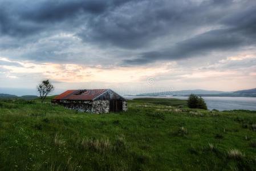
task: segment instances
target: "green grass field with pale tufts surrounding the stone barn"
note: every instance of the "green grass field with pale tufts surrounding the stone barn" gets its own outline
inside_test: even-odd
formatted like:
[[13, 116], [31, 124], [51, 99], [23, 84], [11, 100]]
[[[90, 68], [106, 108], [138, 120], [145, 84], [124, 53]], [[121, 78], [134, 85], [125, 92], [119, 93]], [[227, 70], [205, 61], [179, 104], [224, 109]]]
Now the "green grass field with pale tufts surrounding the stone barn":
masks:
[[[50, 98], [49, 98], [50, 99]], [[0, 101], [0, 170], [256, 170], [256, 112], [135, 99], [94, 115]]]

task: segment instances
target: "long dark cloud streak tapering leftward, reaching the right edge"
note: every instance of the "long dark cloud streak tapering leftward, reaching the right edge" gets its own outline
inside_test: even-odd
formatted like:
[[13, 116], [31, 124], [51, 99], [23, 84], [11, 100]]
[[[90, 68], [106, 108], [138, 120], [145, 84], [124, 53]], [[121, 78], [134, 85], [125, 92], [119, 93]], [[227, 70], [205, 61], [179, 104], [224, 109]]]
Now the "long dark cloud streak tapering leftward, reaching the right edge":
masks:
[[247, 38], [230, 29], [214, 30], [178, 42], [164, 50], [144, 52], [136, 59], [124, 60], [124, 64], [143, 64], [159, 59], [178, 60], [204, 56], [213, 51], [231, 50], [248, 43], [255, 43], [254, 39]]

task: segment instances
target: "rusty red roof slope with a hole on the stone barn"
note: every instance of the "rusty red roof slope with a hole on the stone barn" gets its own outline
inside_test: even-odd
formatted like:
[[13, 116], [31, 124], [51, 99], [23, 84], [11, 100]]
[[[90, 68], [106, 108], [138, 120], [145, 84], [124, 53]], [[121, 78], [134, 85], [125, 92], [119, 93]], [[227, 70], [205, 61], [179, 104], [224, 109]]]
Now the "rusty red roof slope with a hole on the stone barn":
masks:
[[94, 100], [108, 89], [70, 89], [56, 96], [54, 100]]

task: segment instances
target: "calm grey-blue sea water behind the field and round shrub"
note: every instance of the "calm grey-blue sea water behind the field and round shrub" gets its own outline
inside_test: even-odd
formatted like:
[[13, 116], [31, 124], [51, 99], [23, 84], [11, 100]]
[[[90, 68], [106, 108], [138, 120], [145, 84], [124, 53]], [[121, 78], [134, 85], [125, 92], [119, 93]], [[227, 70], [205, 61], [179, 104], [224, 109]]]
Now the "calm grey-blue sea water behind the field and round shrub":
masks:
[[[139, 98], [140, 96], [124, 96], [126, 99]], [[141, 96], [151, 97], [151, 96]], [[188, 99], [185, 96], [154, 96], [153, 98], [174, 98]], [[218, 109], [219, 111], [246, 109], [256, 111], [256, 97], [203, 97], [208, 109]]]

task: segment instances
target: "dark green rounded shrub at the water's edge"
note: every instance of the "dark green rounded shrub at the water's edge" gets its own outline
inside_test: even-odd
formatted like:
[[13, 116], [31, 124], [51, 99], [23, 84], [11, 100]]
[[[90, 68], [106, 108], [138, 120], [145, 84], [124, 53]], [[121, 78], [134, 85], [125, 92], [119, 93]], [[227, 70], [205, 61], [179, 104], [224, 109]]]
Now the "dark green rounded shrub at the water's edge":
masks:
[[205, 100], [202, 97], [191, 94], [188, 98], [188, 107], [189, 108], [198, 108], [207, 110]]

